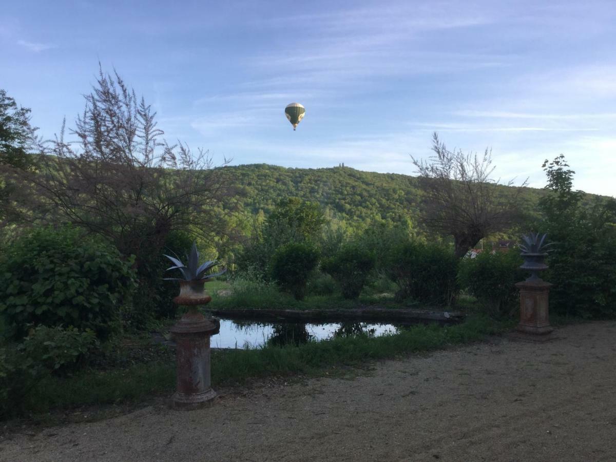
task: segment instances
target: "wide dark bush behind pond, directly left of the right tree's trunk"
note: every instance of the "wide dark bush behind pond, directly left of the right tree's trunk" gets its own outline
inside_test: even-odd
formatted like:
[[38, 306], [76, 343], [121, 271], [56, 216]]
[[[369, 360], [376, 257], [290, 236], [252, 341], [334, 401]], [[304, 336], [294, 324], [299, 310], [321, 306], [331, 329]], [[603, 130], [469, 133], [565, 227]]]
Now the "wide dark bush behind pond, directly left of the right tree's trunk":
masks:
[[458, 259], [451, 249], [415, 240], [393, 246], [386, 273], [399, 287], [396, 298], [449, 305], [457, 292]]

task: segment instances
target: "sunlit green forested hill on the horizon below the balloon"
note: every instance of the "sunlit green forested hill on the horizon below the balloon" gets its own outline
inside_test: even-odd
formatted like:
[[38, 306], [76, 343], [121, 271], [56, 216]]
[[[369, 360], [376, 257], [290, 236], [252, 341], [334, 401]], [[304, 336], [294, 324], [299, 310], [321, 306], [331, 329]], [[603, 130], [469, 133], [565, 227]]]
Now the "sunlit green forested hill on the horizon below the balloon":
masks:
[[[373, 221], [416, 221], [421, 200], [416, 177], [363, 172], [349, 167], [319, 169], [284, 168], [268, 164], [226, 166], [229, 180], [239, 188], [245, 213], [267, 216], [286, 197], [318, 202], [326, 213], [351, 227]], [[506, 193], [508, 188], [503, 188]], [[533, 211], [541, 190], [524, 188], [524, 208]]]

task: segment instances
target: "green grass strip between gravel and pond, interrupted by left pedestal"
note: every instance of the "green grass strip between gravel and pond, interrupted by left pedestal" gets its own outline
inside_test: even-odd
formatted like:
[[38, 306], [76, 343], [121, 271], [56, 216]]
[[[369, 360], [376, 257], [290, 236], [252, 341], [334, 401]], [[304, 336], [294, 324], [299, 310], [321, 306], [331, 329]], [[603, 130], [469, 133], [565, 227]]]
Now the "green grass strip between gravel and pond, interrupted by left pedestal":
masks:
[[[351, 336], [301, 346], [266, 346], [254, 350], [214, 351], [214, 387], [243, 384], [251, 378], [319, 376], [334, 367], [352, 367], [371, 360], [391, 359], [419, 351], [480, 341], [507, 328], [488, 318], [473, 317], [453, 326], [417, 325], [401, 333], [381, 336]], [[175, 386], [175, 363], [148, 362], [121, 370], [87, 370], [66, 378], [47, 378], [28, 394], [24, 410], [44, 413], [88, 405], [140, 403], [155, 395], [171, 394]]]

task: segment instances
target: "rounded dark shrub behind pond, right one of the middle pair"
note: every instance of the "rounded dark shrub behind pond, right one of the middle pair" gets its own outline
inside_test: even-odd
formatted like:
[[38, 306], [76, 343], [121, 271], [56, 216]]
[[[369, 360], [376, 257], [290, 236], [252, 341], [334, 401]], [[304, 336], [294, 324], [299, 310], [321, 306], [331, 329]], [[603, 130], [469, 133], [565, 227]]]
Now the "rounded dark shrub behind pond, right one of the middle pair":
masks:
[[338, 282], [344, 298], [355, 299], [375, 267], [375, 255], [358, 243], [349, 243], [325, 259], [321, 267]]

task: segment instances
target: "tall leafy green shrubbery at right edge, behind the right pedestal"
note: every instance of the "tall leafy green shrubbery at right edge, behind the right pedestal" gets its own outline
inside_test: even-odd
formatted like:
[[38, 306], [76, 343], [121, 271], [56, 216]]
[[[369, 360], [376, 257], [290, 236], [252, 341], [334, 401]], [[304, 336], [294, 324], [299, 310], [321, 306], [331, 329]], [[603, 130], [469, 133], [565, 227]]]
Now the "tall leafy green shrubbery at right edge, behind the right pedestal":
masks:
[[616, 315], [616, 201], [595, 198], [583, 204], [573, 191], [573, 174], [564, 156], [543, 164], [549, 194], [540, 201], [541, 230], [554, 242], [549, 269], [542, 275], [554, 284], [550, 310], [573, 317]]

